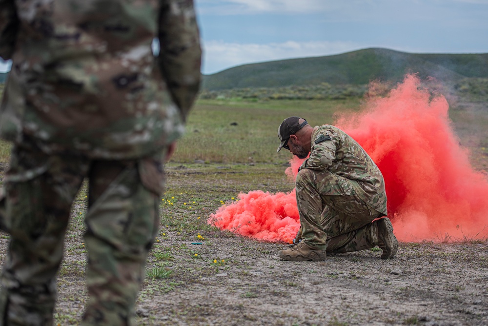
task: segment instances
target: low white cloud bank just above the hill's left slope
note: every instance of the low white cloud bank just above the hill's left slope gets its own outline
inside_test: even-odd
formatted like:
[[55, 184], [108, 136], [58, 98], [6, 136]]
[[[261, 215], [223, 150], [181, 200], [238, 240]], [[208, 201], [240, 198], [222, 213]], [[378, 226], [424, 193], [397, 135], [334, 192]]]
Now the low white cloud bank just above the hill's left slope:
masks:
[[339, 54], [363, 47], [363, 44], [342, 41], [286, 41], [268, 44], [206, 41], [203, 43], [203, 73], [212, 74], [246, 63]]

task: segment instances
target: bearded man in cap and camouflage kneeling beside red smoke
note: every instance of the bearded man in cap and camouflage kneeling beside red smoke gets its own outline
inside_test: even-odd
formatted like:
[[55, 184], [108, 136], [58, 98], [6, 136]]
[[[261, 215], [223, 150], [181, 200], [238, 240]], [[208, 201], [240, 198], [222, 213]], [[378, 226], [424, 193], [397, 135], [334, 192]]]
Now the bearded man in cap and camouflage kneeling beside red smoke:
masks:
[[384, 217], [385, 182], [363, 147], [339, 128], [312, 127], [299, 117], [286, 118], [278, 137], [278, 152], [285, 148], [300, 159], [310, 153], [296, 179], [301, 224], [293, 241], [296, 245], [280, 250], [278, 256], [289, 261], [323, 261], [326, 253], [378, 245], [382, 259], [393, 258], [398, 241]]

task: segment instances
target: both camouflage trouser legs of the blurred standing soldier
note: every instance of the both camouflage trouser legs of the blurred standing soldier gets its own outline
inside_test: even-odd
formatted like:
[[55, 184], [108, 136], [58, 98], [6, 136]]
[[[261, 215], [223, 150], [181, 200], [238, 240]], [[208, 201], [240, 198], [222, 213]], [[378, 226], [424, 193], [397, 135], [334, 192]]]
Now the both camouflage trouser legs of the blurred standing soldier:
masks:
[[0, 206], [2, 227], [10, 233], [0, 325], [53, 324], [70, 208], [85, 177], [90, 298], [81, 325], [132, 325], [144, 263], [159, 230], [160, 158], [102, 161], [13, 148]]

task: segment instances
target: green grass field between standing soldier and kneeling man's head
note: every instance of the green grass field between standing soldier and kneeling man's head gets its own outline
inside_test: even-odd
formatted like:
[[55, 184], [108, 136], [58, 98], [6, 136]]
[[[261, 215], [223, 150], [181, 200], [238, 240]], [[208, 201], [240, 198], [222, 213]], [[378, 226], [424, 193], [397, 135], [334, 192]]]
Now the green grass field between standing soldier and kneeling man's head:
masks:
[[187, 132], [179, 141], [171, 162], [285, 163], [291, 157], [289, 152], [276, 153], [278, 126], [285, 118], [301, 116], [311, 125], [331, 123], [334, 113], [357, 110], [359, 102], [359, 98], [263, 102], [199, 100], [190, 113]]

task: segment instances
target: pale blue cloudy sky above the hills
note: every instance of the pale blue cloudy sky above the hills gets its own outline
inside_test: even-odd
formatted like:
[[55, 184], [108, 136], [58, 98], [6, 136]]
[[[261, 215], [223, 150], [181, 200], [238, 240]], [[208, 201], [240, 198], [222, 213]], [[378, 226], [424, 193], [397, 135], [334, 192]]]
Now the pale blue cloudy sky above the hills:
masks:
[[488, 0], [195, 0], [195, 4], [204, 74], [244, 63], [368, 47], [488, 53]]

